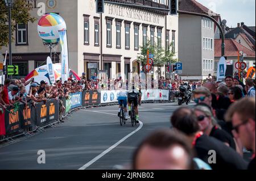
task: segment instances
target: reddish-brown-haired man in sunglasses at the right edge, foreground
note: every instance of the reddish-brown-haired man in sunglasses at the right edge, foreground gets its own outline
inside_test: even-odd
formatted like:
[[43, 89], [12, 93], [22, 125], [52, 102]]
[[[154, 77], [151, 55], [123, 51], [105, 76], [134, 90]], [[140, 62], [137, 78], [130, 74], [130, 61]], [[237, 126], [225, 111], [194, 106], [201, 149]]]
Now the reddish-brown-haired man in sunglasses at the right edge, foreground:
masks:
[[[237, 142], [253, 151], [248, 169], [255, 171], [255, 99], [243, 98], [230, 106], [226, 120], [232, 120], [233, 134]], [[242, 147], [240, 148], [242, 149]]]

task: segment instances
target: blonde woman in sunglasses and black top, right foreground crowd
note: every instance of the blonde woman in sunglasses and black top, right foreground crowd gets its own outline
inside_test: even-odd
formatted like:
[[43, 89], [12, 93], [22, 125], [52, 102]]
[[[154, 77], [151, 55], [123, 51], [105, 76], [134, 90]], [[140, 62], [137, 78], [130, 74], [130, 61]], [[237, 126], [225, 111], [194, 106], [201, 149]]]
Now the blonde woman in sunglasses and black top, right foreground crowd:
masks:
[[236, 150], [236, 144], [230, 136], [229, 133], [219, 128], [216, 120], [214, 119], [212, 112], [208, 107], [205, 106], [196, 106], [194, 108], [195, 114], [197, 116], [197, 121], [200, 127], [200, 131], [203, 131], [204, 134], [212, 136], [217, 140], [224, 142], [225, 145], [230, 146]]

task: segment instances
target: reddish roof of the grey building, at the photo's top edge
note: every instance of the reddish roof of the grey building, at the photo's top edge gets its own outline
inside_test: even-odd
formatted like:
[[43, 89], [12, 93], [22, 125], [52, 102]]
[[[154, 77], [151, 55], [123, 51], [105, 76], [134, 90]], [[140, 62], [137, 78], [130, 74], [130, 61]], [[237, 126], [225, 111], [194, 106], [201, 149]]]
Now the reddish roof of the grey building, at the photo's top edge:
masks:
[[179, 10], [188, 11], [188, 12], [197, 12], [207, 15], [217, 15], [213, 11], [209, 10], [207, 7], [201, 5], [195, 0], [180, 0], [179, 1]]

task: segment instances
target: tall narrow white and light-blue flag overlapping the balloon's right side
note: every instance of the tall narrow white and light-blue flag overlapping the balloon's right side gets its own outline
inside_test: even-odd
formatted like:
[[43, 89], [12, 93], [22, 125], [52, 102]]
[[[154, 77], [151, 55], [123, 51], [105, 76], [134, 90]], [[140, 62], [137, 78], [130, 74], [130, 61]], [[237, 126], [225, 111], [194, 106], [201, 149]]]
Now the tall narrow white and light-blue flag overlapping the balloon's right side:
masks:
[[68, 81], [69, 76], [67, 31], [59, 31], [59, 35], [61, 46], [61, 80], [64, 82]]

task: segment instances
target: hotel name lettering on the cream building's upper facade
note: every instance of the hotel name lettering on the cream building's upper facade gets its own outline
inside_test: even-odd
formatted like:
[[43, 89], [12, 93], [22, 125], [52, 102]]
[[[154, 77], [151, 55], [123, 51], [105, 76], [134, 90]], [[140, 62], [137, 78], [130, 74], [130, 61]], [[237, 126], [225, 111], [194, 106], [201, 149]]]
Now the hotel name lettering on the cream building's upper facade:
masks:
[[137, 9], [129, 9], [128, 7], [115, 6], [107, 4], [107, 10], [110, 15], [121, 16], [134, 20], [142, 20], [143, 22], [158, 23], [161, 18], [158, 14], [152, 14]]

